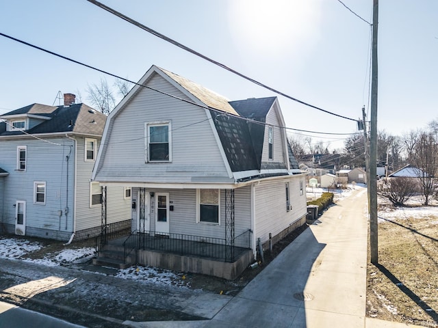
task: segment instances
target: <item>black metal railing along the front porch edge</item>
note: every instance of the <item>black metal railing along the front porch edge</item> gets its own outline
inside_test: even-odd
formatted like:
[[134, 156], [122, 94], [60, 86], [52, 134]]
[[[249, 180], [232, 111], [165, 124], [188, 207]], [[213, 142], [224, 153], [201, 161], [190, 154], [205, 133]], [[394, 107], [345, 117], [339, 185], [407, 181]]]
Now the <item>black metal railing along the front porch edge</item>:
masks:
[[181, 256], [198, 256], [222, 262], [234, 262], [246, 249], [251, 248], [251, 234], [251, 230], [246, 230], [236, 236], [231, 245], [227, 245], [225, 238], [135, 231], [123, 245], [125, 259], [134, 249], [151, 249]]

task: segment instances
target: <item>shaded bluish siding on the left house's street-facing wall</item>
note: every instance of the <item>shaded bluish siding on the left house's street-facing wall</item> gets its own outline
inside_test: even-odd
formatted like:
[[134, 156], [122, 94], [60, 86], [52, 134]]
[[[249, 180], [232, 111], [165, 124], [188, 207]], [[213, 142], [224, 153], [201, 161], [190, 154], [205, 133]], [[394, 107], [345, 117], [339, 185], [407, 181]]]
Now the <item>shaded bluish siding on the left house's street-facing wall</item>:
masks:
[[[25, 201], [26, 235], [65, 239], [73, 232], [73, 212], [65, 215], [64, 208], [73, 208], [73, 195], [69, 193], [67, 199], [66, 186], [73, 184], [74, 149], [67, 169], [65, 159], [72, 142], [61, 137], [47, 140], [51, 143], [36, 139], [0, 141], [1, 167], [10, 172], [4, 181], [3, 223], [14, 232], [14, 205], [17, 200]], [[25, 171], [16, 170], [17, 146], [27, 146]], [[46, 183], [45, 204], [34, 204], [34, 182], [37, 181]]]

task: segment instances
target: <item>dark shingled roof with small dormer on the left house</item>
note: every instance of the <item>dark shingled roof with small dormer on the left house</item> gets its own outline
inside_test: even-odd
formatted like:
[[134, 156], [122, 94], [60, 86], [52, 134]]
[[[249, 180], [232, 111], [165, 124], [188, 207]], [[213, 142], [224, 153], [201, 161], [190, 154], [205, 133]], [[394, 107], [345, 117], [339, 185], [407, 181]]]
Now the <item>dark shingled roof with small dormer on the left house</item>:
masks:
[[[29, 134], [80, 133], [85, 135], [102, 135], [106, 116], [85, 104], [68, 107], [32, 104], [9, 113], [0, 118], [40, 118], [41, 123], [25, 131]], [[6, 131], [6, 122], [0, 123], [0, 137], [23, 135], [22, 131]]]

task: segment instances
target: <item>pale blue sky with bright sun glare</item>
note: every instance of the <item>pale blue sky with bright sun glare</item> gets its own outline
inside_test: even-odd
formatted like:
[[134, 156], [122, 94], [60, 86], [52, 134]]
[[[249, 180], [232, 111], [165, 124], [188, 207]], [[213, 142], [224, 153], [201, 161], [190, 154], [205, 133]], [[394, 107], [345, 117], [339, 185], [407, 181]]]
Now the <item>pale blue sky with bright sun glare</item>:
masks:
[[[284, 94], [355, 120], [370, 119], [372, 0], [101, 0]], [[403, 135], [438, 119], [438, 1], [378, 7], [377, 128]], [[357, 123], [301, 105], [192, 55], [86, 0], [0, 0], [0, 33], [138, 81], [157, 65], [229, 98], [278, 96], [288, 128], [329, 149]], [[0, 115], [34, 102], [59, 105], [114, 78], [0, 36]], [[62, 100], [61, 100], [62, 101]], [[78, 102], [78, 101], [77, 101]], [[289, 131], [294, 133], [296, 131]], [[323, 134], [321, 134], [323, 133]], [[345, 133], [347, 135], [331, 135]]]

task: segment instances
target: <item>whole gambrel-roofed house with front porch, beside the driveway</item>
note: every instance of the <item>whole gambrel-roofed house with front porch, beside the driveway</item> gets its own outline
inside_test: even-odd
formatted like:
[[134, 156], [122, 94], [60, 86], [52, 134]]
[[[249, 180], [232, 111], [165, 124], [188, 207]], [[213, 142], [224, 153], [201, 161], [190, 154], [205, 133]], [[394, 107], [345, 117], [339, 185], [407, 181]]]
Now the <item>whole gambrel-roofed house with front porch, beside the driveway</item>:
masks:
[[152, 66], [108, 116], [92, 176], [104, 193], [131, 187], [125, 255], [233, 279], [270, 236], [304, 224], [305, 174], [284, 126], [276, 97], [229, 101]]

